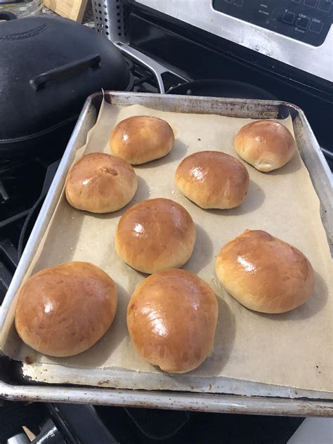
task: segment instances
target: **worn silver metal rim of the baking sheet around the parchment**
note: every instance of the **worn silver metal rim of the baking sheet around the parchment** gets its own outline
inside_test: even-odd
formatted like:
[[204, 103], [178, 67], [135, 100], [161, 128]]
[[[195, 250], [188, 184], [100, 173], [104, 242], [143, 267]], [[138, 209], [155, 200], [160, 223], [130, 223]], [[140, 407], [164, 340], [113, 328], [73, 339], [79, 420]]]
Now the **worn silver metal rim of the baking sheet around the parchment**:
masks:
[[[296, 139], [303, 147], [310, 147], [304, 158], [304, 150], [301, 150], [306, 166], [308, 167], [316, 192], [320, 195], [322, 221], [329, 239], [332, 251], [332, 205], [330, 204], [332, 193], [332, 174], [329, 171], [325, 157], [322, 155], [318, 142], [313, 135], [306, 117], [299, 107], [295, 105], [270, 101], [270, 100], [243, 100], [225, 98], [204, 98], [167, 96], [148, 93], [119, 93], [107, 92], [105, 99], [112, 102], [120, 100], [122, 105], [141, 103], [148, 107], [163, 107], [164, 110], [177, 110], [182, 112], [209, 112], [223, 113], [230, 117], [270, 118], [278, 115], [281, 107], [294, 110], [294, 129]], [[41, 237], [48, 226], [55, 205], [58, 202], [67, 171], [74, 159], [74, 153], [84, 145], [86, 134], [96, 122], [98, 109], [94, 103], [98, 100], [98, 107], [103, 99], [103, 93], [95, 93], [87, 98], [81, 111], [77, 124], [74, 128], [70, 141], [64, 152], [63, 158], [55, 174], [55, 178], [41, 208], [37, 222], [32, 230], [27, 247], [15, 272], [11, 285], [8, 289], [0, 313], [0, 327], [4, 325], [6, 313], [15, 296], [16, 290], [24, 277], [27, 267], [30, 265], [34, 253], [38, 247]], [[176, 105], [176, 106], [175, 106]], [[175, 109], [176, 108], [176, 109]], [[180, 109], [181, 108], [181, 109]], [[89, 119], [91, 125], [89, 126]], [[86, 128], [84, 128], [86, 126]], [[299, 127], [298, 127], [299, 126]], [[298, 143], [300, 145], [300, 143]], [[243, 381], [246, 385], [246, 381]], [[263, 384], [268, 388], [268, 384]], [[278, 386], [275, 386], [275, 390]], [[281, 388], [282, 389], [282, 388]], [[286, 389], [286, 388], [285, 388]], [[273, 392], [275, 391], [272, 390]], [[246, 391], [246, 390], [245, 390]], [[290, 391], [289, 397], [279, 396], [244, 396], [226, 393], [198, 393], [188, 391], [142, 391], [138, 389], [109, 389], [100, 387], [96, 389], [85, 386], [39, 386], [37, 384], [12, 385], [0, 381], [0, 397], [10, 400], [37, 400], [68, 403], [93, 403], [101, 405], [127, 405], [132, 407], [152, 407], [175, 410], [197, 410], [207, 412], [230, 412], [249, 414], [281, 414], [291, 416], [331, 416], [333, 414], [333, 400], [313, 399], [318, 397], [319, 392], [299, 391], [304, 398], [292, 398], [295, 391]], [[284, 393], [285, 394], [285, 393]], [[306, 396], [308, 394], [308, 396]], [[324, 395], [324, 393], [323, 393]], [[325, 396], [327, 398], [327, 394]]]

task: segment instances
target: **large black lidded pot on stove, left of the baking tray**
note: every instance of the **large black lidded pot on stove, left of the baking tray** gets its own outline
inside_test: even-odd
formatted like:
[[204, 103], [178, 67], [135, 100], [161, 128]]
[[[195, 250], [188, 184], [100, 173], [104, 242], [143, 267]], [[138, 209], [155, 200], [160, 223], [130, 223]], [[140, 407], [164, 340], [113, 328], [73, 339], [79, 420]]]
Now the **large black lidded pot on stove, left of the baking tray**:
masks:
[[46, 150], [91, 93], [131, 88], [122, 53], [96, 31], [43, 15], [1, 18], [0, 157]]

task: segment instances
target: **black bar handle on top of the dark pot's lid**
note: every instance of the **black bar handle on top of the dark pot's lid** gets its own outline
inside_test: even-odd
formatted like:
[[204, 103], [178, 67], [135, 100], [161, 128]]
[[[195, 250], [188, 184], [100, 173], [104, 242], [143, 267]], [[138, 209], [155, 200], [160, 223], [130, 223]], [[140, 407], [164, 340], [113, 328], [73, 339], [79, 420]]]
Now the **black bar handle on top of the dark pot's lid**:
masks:
[[67, 63], [67, 65], [43, 72], [34, 79], [30, 80], [30, 84], [34, 91], [39, 91], [44, 89], [44, 86], [48, 81], [66, 79], [70, 75], [78, 74], [79, 72], [86, 70], [86, 68], [98, 67], [100, 60], [99, 54], [89, 55], [88, 57], [75, 60], [75, 62]]

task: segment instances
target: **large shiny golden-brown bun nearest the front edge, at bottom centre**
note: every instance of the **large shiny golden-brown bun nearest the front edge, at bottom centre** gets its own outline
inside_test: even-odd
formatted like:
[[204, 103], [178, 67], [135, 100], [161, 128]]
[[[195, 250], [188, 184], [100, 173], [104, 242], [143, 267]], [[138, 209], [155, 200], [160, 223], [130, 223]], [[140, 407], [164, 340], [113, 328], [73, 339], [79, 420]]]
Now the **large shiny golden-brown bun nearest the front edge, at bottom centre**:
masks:
[[127, 327], [136, 351], [169, 373], [198, 367], [213, 352], [218, 303], [211, 287], [185, 270], [165, 270], [136, 288]]

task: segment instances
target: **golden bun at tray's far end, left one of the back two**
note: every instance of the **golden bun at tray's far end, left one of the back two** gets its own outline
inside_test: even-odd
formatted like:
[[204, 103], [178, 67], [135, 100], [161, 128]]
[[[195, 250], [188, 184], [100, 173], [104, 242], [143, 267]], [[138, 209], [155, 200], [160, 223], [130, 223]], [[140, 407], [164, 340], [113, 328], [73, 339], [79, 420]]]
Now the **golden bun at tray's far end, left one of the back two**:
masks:
[[113, 155], [132, 165], [164, 157], [174, 146], [174, 131], [165, 120], [133, 116], [115, 126], [110, 138]]

